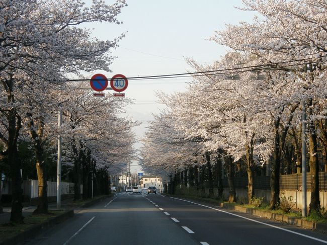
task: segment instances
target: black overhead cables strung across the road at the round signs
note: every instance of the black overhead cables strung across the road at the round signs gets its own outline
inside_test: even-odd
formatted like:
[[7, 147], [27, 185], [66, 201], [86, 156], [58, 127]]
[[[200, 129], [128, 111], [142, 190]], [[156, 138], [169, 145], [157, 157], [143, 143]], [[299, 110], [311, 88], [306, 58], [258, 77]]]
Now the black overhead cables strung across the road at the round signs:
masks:
[[[233, 67], [233, 68], [225, 68], [225, 69], [217, 69], [217, 70], [184, 72], [184, 73], [163, 74], [163, 75], [150, 75], [150, 76], [132, 76], [132, 77], [127, 77], [127, 79], [128, 80], [163, 79], [163, 78], [167, 79], [167, 78], [194, 77], [194, 76], [203, 76], [203, 75], [234, 74], [235, 72], [258, 71], [258, 70], [274, 69], [276, 67], [279, 67], [279, 68], [284, 67], [285, 68], [285, 67], [295, 66], [295, 65], [305, 65], [305, 64], [307, 64], [308, 60], [322, 58], [322, 57], [327, 57], [327, 55], [312, 57], [312, 58], [305, 58], [305, 59], [281, 61], [281, 62], [276, 62], [276, 63]], [[296, 63], [296, 64], [287, 64], [287, 63], [293, 63], [293, 62], [299, 62], [299, 61], [306, 61], [306, 62]], [[279, 66], [282, 64], [286, 64], [286, 65]], [[67, 81], [89, 81], [89, 80], [90, 79], [68, 79]], [[96, 80], [96, 79], [94, 79], [94, 80]]]

